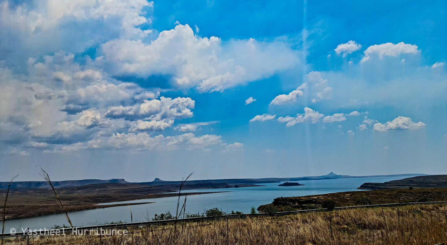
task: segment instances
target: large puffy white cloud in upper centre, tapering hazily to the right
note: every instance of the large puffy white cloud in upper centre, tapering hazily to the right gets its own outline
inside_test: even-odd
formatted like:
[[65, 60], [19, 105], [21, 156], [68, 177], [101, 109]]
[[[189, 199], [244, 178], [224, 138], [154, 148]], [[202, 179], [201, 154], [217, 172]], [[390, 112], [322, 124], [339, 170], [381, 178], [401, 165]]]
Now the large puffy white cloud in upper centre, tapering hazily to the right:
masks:
[[145, 43], [116, 39], [101, 46], [103, 56], [117, 75], [172, 76], [180, 88], [197, 86], [199, 91], [222, 91], [258, 80], [298, 64], [298, 52], [285, 42], [233, 40], [194, 35], [189, 25], [162, 31]]

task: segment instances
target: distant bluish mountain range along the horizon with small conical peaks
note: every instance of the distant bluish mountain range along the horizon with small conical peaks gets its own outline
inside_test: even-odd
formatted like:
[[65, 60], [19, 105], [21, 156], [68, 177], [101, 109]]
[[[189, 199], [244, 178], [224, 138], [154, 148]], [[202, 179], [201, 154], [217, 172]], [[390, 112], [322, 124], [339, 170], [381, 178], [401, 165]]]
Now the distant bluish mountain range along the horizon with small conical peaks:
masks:
[[[306, 177], [288, 177], [288, 178], [246, 178], [246, 179], [212, 179], [212, 180], [190, 180], [186, 183], [188, 185], [204, 185], [204, 184], [216, 184], [226, 183], [228, 185], [244, 185], [244, 184], [262, 184], [262, 183], [277, 183], [287, 181], [302, 181], [302, 180], [323, 180], [323, 179], [342, 179], [342, 178], [367, 178], [367, 177], [408, 177], [408, 176], [425, 176], [428, 174], [423, 173], [405, 173], [405, 174], [391, 174], [391, 175], [368, 175], [368, 176], [350, 176], [350, 175], [338, 175], [330, 172], [320, 176], [306, 176]], [[0, 182], [0, 189], [8, 188], [9, 182]], [[60, 187], [72, 187], [72, 186], [84, 186], [92, 184], [107, 184], [107, 183], [125, 183], [125, 184], [141, 184], [149, 186], [163, 186], [178, 184], [180, 181], [164, 181], [159, 178], [155, 178], [152, 182], [127, 182], [124, 179], [84, 179], [84, 180], [66, 180], [52, 182], [55, 188]], [[45, 181], [19, 181], [12, 182], [11, 188], [50, 188], [50, 185]]]

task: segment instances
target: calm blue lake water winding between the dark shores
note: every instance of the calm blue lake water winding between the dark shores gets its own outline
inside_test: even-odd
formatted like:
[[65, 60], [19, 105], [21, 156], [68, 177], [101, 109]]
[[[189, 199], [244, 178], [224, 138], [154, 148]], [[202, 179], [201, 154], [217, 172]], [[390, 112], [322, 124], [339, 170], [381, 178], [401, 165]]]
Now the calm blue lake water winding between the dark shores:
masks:
[[[225, 212], [241, 211], [249, 213], [251, 207], [259, 207], [262, 204], [271, 203], [277, 197], [306, 196], [313, 194], [326, 194], [341, 191], [358, 191], [357, 187], [365, 182], [386, 182], [402, 179], [403, 177], [374, 177], [374, 178], [351, 178], [332, 180], [307, 180], [299, 181], [304, 186], [278, 186], [280, 183], [267, 183], [265, 186], [222, 188], [206, 190], [187, 190], [186, 192], [210, 192], [229, 191], [224, 193], [190, 195], [186, 199], [186, 212], [202, 214], [203, 211], [217, 207]], [[181, 202], [184, 197], [181, 197]], [[171, 211], [175, 215], [177, 208], [177, 197], [140, 199], [116, 203], [141, 203], [155, 202], [149, 204], [131, 205], [133, 221], [146, 221], [155, 214]], [[110, 203], [107, 203], [110, 204]], [[68, 216], [75, 226], [88, 226], [102, 224], [111, 221], [131, 221], [131, 213], [128, 206], [108, 207], [85, 211], [69, 212]], [[42, 215], [33, 218], [6, 220], [5, 232], [10, 228], [51, 228], [55, 224], [68, 225], [64, 214]]]

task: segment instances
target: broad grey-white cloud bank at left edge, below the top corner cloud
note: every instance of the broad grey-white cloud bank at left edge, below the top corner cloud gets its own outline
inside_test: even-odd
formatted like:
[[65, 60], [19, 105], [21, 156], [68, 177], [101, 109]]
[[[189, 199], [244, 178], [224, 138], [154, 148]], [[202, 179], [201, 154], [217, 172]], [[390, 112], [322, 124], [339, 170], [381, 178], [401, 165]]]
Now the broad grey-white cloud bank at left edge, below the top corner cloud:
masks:
[[157, 99], [158, 92], [84, 68], [70, 54], [28, 66], [27, 76], [0, 69], [0, 141], [19, 143], [9, 152], [87, 148], [116, 131], [161, 131], [193, 115], [189, 97]]

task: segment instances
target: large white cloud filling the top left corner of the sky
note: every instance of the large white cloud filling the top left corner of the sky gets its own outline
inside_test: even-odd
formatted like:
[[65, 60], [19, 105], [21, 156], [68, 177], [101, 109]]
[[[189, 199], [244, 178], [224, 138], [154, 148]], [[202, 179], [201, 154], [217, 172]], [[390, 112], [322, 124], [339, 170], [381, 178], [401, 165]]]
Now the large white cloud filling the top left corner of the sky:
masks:
[[[57, 1], [0, 3], [0, 57], [18, 67], [30, 56], [85, 48], [114, 38], [144, 38], [151, 30], [146, 0]], [[92, 28], [94, 27], [94, 28]]]

